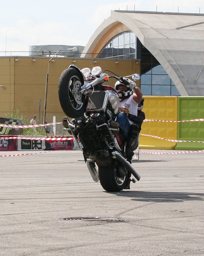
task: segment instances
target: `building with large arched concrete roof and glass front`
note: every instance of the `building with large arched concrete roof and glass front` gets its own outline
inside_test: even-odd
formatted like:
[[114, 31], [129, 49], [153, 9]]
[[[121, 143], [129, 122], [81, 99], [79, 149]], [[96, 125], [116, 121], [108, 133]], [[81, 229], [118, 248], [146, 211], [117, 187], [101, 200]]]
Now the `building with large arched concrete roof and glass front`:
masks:
[[140, 59], [144, 95], [204, 96], [204, 14], [111, 11], [81, 57]]

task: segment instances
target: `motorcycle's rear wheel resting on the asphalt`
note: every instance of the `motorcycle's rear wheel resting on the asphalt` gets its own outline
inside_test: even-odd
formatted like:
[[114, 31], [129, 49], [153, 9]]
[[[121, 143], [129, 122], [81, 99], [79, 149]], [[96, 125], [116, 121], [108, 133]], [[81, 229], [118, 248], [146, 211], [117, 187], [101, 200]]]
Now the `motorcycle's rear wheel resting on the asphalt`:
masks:
[[103, 189], [108, 192], [121, 191], [126, 187], [128, 171], [116, 160], [113, 160], [109, 166], [99, 166], [98, 174]]

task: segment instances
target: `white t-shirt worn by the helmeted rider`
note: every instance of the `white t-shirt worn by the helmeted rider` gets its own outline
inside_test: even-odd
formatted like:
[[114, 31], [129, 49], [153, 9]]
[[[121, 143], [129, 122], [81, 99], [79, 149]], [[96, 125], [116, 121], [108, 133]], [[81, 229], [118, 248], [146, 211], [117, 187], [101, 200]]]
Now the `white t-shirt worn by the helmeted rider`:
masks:
[[[125, 112], [127, 114], [137, 116], [138, 103], [133, 100], [133, 95], [134, 94], [132, 94], [129, 98], [119, 102], [119, 106], [118, 106], [119, 112]], [[132, 121], [129, 120], [129, 122], [130, 124], [133, 124]]]

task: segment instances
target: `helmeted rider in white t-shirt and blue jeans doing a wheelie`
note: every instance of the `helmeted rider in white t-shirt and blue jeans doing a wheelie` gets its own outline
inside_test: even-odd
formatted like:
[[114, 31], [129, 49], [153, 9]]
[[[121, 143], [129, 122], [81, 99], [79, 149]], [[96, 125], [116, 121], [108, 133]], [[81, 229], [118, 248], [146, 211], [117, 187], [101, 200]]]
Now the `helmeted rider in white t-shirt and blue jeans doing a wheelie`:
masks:
[[138, 104], [142, 101], [142, 92], [132, 80], [125, 78], [129, 85], [117, 81], [115, 89], [119, 95], [119, 107], [116, 117], [116, 123], [120, 128], [120, 135], [123, 140], [127, 141], [126, 156], [131, 159], [134, 150], [138, 146], [138, 134], [140, 129], [137, 123], [131, 121], [131, 117], [137, 117]]

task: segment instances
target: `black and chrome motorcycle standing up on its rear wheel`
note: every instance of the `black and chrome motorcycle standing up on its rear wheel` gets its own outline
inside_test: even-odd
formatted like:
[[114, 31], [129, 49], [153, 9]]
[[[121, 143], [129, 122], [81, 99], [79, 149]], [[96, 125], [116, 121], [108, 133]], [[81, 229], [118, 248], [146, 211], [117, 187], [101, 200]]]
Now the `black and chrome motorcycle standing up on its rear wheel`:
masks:
[[[130, 76], [133, 80], [140, 78], [138, 74], [126, 77]], [[63, 130], [75, 138], [83, 151], [91, 177], [95, 182], [100, 181], [104, 190], [118, 192], [130, 189], [130, 182], [139, 181], [140, 175], [127, 161], [126, 142], [117, 140], [119, 128], [111, 125], [116, 118], [119, 97], [114, 87], [102, 85], [110, 78], [128, 83], [111, 71], [102, 72], [101, 67], [91, 71], [70, 65], [60, 75], [58, 94], [61, 108], [67, 115], [63, 118]]]

